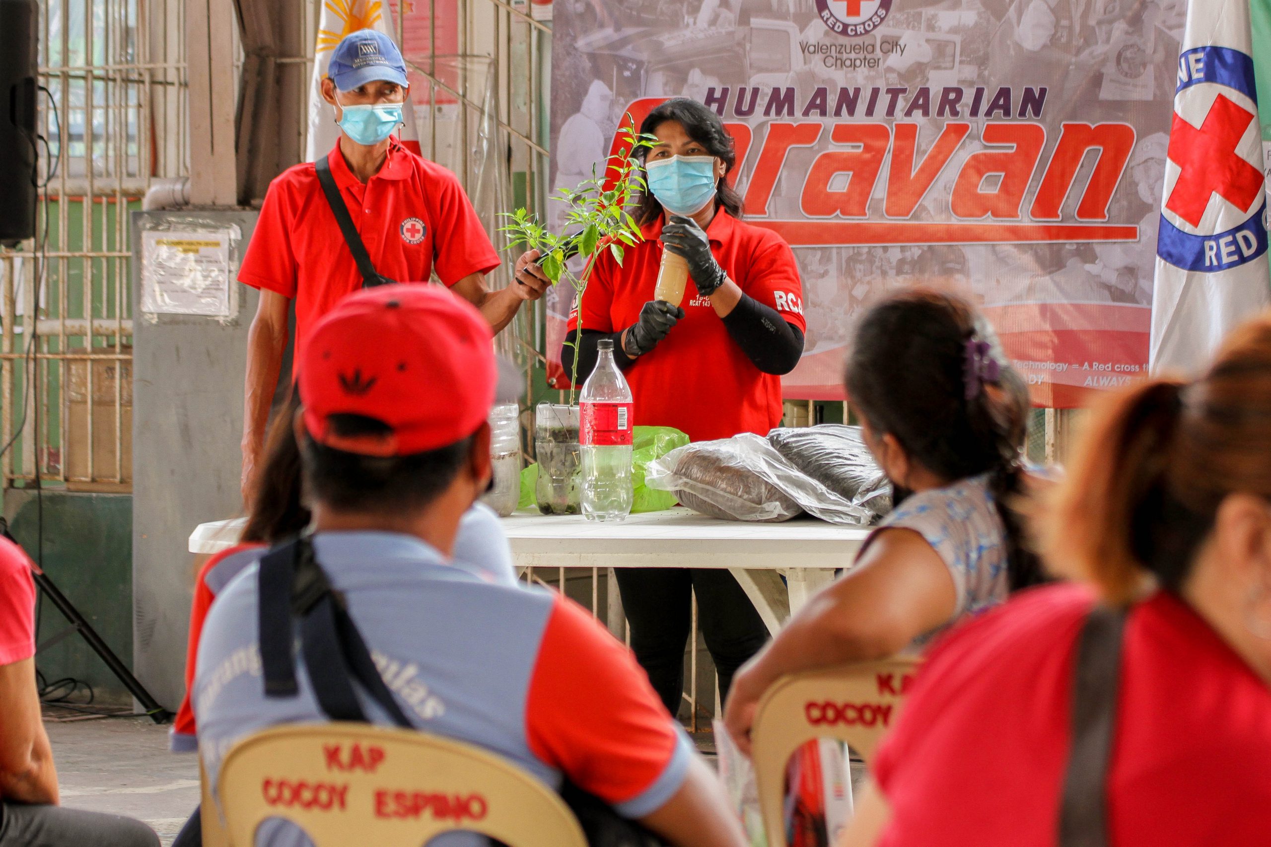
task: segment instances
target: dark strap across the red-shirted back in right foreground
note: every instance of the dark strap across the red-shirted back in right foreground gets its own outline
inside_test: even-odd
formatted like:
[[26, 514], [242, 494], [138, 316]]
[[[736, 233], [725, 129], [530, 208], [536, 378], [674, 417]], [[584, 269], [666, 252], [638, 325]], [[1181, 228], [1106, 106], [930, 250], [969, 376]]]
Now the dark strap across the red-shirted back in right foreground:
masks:
[[1059, 847], [1108, 847], [1107, 783], [1116, 736], [1125, 610], [1096, 607], [1077, 646], [1073, 744], [1059, 811]]

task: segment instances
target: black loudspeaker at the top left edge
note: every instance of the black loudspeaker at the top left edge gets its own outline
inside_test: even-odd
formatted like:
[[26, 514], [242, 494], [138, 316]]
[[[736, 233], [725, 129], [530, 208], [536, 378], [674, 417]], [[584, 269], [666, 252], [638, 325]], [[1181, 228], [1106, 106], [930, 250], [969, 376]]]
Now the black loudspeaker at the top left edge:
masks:
[[0, 244], [36, 237], [36, 3], [0, 0]]

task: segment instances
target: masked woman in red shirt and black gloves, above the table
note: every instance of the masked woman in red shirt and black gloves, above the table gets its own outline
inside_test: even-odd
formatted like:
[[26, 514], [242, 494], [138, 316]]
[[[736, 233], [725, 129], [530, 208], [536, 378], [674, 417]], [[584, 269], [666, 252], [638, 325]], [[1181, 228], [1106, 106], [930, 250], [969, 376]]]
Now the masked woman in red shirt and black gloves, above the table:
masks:
[[[803, 289], [794, 253], [770, 229], [741, 220], [730, 187], [733, 141], [712, 109], [675, 98], [644, 118], [648, 191], [636, 221], [644, 240], [622, 265], [602, 252], [562, 348], [578, 383], [596, 345], [614, 342], [630, 383], [636, 422], [674, 426], [694, 441], [768, 435], [782, 421], [782, 375], [803, 352]], [[684, 299], [653, 299], [663, 251], [689, 266]], [[580, 337], [581, 329], [581, 337]]]

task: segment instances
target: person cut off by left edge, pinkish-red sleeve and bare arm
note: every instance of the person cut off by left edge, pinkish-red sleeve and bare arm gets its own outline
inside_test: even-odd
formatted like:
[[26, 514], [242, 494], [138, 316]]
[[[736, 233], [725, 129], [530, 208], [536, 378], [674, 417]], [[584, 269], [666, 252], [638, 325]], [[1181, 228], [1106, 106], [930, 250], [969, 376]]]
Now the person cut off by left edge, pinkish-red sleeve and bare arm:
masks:
[[0, 847], [159, 847], [140, 820], [64, 809], [36, 688], [31, 560], [0, 538]]

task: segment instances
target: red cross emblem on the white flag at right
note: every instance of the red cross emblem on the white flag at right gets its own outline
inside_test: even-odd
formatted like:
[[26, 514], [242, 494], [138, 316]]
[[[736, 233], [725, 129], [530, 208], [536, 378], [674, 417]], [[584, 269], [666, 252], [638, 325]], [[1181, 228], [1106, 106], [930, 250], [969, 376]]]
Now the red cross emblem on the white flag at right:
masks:
[[1223, 94], [1214, 99], [1199, 130], [1174, 112], [1167, 155], [1182, 172], [1166, 209], [1200, 226], [1213, 195], [1242, 211], [1253, 205], [1263, 189], [1262, 173], [1235, 154], [1252, 121], [1252, 112]]

